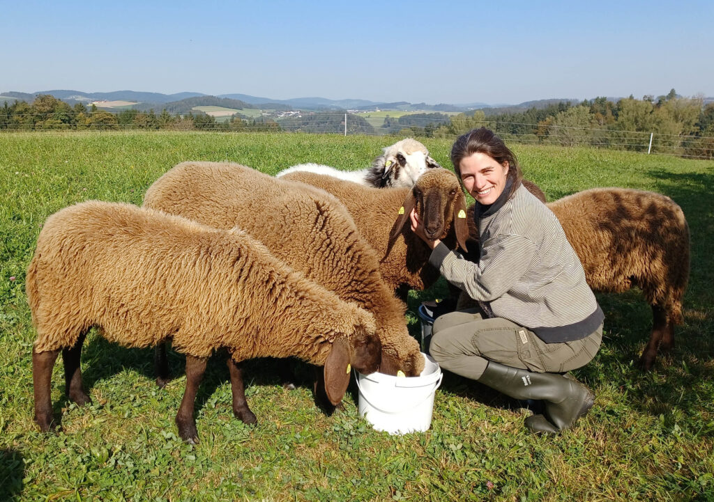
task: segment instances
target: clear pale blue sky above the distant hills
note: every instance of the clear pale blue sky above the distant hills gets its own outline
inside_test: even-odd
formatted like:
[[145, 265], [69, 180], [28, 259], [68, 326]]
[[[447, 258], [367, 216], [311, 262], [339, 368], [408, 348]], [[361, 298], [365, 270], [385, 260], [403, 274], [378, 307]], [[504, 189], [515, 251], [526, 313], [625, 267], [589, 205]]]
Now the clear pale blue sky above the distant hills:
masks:
[[714, 96], [714, 1], [6, 1], [0, 92]]

